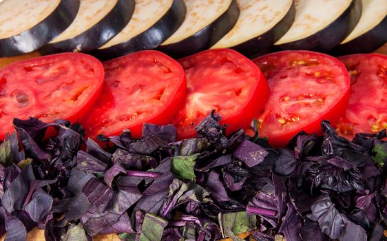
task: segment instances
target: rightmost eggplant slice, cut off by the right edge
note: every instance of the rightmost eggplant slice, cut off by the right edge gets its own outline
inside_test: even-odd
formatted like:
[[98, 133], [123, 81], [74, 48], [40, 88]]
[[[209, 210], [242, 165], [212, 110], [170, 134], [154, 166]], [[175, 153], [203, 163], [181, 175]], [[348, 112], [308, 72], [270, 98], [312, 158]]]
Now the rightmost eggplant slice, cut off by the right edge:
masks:
[[387, 42], [387, 1], [362, 0], [359, 23], [340, 45], [335, 54], [373, 52]]

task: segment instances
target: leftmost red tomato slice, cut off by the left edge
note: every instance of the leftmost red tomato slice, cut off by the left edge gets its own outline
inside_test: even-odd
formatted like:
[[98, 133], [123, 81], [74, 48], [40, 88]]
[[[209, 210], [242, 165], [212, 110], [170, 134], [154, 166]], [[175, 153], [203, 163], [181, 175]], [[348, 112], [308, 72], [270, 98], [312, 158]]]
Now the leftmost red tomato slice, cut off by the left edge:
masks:
[[78, 121], [102, 90], [103, 65], [87, 54], [65, 53], [12, 63], [0, 70], [0, 139], [13, 118]]

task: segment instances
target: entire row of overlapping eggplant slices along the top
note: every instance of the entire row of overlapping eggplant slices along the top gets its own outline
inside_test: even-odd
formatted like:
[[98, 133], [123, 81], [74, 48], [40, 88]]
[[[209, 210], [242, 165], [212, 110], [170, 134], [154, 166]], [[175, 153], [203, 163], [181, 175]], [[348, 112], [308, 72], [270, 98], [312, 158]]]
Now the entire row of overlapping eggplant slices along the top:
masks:
[[386, 0], [3, 0], [0, 57], [85, 52], [112, 59], [156, 49], [373, 52], [387, 41]]

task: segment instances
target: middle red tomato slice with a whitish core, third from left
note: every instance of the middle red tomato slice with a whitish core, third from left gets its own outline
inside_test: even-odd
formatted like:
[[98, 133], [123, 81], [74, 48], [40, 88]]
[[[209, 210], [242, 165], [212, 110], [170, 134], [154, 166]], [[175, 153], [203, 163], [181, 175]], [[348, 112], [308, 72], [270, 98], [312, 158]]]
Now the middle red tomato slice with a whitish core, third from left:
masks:
[[196, 125], [213, 109], [229, 133], [249, 127], [269, 97], [262, 72], [234, 50], [207, 50], [179, 62], [187, 76], [185, 106], [174, 117], [180, 139], [196, 136]]

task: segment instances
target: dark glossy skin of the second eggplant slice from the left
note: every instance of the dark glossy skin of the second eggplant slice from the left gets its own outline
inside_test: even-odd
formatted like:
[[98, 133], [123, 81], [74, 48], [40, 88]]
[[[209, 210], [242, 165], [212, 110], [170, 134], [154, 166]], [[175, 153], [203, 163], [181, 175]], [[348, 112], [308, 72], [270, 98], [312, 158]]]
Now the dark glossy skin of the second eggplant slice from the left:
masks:
[[41, 54], [54, 54], [58, 52], [90, 52], [95, 50], [127, 25], [134, 11], [134, 0], [118, 0], [116, 6], [98, 23], [85, 32], [56, 43], [44, 45]]

